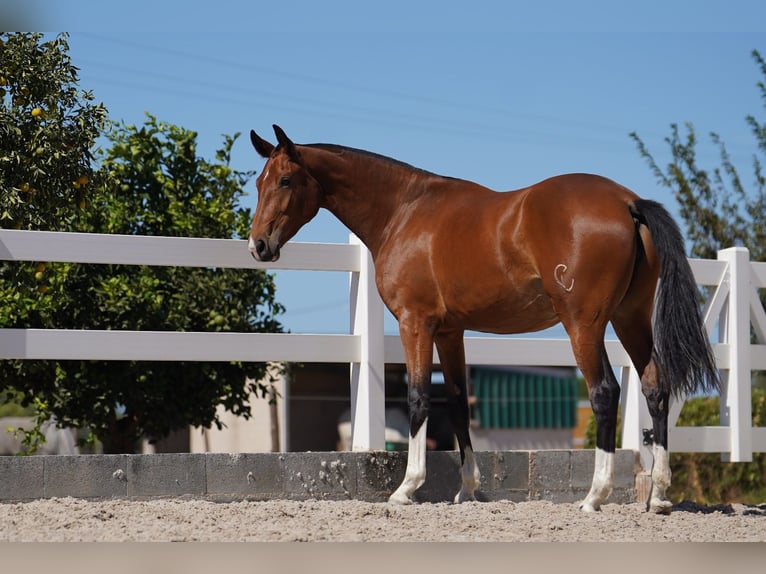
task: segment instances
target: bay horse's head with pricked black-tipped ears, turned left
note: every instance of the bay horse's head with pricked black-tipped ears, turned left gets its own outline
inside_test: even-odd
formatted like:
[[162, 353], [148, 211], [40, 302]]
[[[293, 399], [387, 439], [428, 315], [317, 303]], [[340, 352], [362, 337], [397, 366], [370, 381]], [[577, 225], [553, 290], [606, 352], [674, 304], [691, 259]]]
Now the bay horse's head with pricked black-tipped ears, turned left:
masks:
[[311, 177], [300, 151], [275, 125], [277, 145], [250, 130], [255, 151], [267, 159], [255, 182], [258, 204], [248, 247], [258, 261], [276, 261], [279, 250], [319, 210], [321, 188]]

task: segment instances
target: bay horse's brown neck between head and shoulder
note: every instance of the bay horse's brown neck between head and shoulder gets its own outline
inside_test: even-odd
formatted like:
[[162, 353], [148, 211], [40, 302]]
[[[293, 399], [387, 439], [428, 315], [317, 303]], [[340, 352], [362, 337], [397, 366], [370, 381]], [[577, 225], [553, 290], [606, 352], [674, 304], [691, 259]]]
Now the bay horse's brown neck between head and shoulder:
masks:
[[370, 159], [313, 150], [306, 154], [324, 190], [329, 210], [376, 254], [389, 222], [396, 218], [412, 174]]

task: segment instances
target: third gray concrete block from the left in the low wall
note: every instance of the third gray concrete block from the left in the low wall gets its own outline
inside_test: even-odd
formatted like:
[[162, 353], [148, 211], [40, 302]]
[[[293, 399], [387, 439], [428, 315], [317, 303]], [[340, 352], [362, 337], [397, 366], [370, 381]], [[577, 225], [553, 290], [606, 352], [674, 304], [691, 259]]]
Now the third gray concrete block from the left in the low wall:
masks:
[[204, 454], [142, 454], [128, 459], [128, 496], [202, 496]]

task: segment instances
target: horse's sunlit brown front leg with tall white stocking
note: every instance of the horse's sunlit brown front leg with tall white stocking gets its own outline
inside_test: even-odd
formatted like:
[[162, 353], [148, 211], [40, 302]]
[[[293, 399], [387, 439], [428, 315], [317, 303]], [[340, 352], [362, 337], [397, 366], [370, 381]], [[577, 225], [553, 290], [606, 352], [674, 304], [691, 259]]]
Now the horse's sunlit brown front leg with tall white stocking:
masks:
[[426, 322], [399, 320], [399, 333], [404, 345], [409, 377], [407, 402], [410, 413], [410, 440], [407, 469], [399, 488], [388, 501], [411, 504], [413, 493], [426, 481], [426, 428], [431, 404], [431, 366], [433, 363], [433, 329]]

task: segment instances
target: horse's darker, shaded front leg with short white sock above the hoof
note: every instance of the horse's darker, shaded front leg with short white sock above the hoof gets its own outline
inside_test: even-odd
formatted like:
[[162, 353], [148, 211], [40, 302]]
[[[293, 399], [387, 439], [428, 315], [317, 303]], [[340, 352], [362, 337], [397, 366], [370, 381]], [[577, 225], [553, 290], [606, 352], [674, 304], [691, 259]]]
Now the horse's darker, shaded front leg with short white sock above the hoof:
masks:
[[454, 331], [438, 334], [436, 349], [439, 351], [439, 361], [444, 371], [452, 429], [460, 447], [462, 486], [455, 496], [455, 502], [475, 500], [474, 492], [479, 487], [481, 473], [476, 465], [471, 437], [468, 432], [469, 411], [463, 332]]

